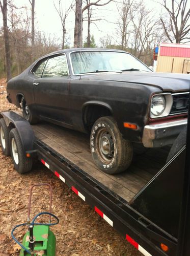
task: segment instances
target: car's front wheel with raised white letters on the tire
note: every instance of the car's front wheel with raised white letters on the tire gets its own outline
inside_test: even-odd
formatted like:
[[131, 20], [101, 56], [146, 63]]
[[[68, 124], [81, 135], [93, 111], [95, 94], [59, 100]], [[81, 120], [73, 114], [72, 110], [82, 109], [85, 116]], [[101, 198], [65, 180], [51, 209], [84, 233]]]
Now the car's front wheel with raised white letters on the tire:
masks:
[[95, 164], [104, 173], [122, 173], [132, 161], [132, 144], [123, 139], [113, 117], [101, 117], [94, 123], [90, 146]]

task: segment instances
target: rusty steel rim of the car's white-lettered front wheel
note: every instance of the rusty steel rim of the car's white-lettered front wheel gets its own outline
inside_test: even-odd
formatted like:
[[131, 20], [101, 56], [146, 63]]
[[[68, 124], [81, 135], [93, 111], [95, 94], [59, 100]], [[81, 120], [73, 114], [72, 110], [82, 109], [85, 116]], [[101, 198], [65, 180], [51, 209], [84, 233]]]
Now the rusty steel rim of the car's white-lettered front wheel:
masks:
[[106, 129], [101, 129], [97, 134], [97, 153], [100, 159], [109, 164], [115, 155], [115, 143], [112, 134]]

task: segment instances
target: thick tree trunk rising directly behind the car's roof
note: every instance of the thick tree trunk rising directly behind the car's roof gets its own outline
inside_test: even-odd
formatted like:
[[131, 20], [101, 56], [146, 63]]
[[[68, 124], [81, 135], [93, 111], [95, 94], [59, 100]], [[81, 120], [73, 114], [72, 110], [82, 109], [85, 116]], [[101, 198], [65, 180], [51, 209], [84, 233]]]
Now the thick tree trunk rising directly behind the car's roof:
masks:
[[75, 0], [74, 47], [82, 47], [82, 0]]

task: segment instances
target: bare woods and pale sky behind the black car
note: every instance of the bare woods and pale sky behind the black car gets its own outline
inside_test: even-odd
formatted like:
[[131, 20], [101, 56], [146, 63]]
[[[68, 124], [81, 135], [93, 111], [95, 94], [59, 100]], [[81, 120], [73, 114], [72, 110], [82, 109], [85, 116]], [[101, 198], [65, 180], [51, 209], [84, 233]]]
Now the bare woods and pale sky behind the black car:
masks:
[[160, 42], [190, 42], [188, 0], [0, 0], [0, 77], [72, 47], [125, 50], [147, 66]]

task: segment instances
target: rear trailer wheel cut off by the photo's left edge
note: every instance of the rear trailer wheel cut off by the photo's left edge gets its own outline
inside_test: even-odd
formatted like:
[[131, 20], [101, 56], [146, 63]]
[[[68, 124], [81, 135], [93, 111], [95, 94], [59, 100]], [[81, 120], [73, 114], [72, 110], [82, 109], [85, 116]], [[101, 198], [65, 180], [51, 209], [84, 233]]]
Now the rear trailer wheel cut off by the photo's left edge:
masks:
[[2, 146], [2, 151], [5, 156], [10, 156], [10, 146], [9, 146], [9, 132], [11, 129], [7, 127], [4, 118], [0, 119], [0, 143]]

